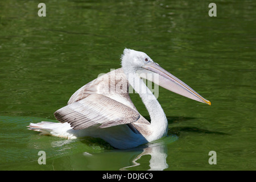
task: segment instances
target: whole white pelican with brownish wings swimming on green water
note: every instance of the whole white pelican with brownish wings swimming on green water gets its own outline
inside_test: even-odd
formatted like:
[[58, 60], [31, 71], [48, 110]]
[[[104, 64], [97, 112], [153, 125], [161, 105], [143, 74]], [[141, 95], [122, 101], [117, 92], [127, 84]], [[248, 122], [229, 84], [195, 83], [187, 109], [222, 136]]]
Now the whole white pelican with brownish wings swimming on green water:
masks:
[[[67, 139], [101, 138], [119, 149], [137, 147], [165, 137], [168, 129], [166, 114], [142, 78], [210, 105], [210, 101], [160, 67], [144, 52], [125, 48], [121, 65], [121, 68], [101, 75], [77, 90], [67, 106], [55, 111], [59, 122], [30, 123], [29, 129]], [[131, 101], [129, 85], [141, 97], [151, 122], [139, 114]]]

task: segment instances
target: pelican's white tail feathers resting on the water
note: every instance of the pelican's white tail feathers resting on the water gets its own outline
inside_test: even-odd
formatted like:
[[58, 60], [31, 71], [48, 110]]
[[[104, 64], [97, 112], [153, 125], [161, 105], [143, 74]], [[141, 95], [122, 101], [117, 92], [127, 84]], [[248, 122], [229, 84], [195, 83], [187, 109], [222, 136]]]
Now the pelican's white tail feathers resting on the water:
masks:
[[55, 137], [73, 139], [76, 138], [74, 130], [69, 123], [55, 123], [42, 121], [40, 123], [30, 123], [28, 130], [41, 132], [42, 135], [52, 135]]

